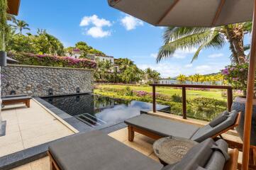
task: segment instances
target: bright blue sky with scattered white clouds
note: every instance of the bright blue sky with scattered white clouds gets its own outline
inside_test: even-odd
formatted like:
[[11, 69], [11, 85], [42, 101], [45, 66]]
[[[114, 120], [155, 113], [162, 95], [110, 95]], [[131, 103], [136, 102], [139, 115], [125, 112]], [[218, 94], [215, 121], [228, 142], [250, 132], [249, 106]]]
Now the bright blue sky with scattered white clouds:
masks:
[[230, 64], [228, 45], [221, 50], [203, 50], [192, 64], [193, 51], [178, 51], [174, 57], [157, 64], [155, 56], [162, 45], [163, 28], [110, 8], [106, 0], [21, 0], [17, 18], [29, 24], [31, 33], [37, 28], [46, 29], [65, 47], [85, 41], [106, 55], [128, 57], [140, 69], [156, 69], [162, 77], [208, 74]]

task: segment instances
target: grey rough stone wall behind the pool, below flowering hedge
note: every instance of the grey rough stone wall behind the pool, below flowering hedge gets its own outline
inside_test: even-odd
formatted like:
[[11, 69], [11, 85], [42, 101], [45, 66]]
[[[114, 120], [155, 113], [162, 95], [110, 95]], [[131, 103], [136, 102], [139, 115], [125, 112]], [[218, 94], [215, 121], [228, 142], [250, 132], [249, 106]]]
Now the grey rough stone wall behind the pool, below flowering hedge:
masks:
[[30, 96], [48, 96], [74, 94], [77, 87], [80, 93], [91, 92], [93, 89], [93, 70], [62, 67], [40, 67], [9, 64], [1, 69], [2, 95], [16, 91], [16, 94]]

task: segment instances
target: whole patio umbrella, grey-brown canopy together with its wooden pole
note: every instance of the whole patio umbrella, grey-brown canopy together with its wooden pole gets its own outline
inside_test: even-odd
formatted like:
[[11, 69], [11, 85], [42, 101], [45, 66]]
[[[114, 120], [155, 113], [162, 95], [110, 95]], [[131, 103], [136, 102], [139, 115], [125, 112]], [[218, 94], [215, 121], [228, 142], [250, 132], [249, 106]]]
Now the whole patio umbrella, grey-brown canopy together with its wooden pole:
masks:
[[247, 170], [255, 83], [256, 0], [108, 0], [108, 4], [154, 26], [216, 27], [252, 21], [242, 164]]

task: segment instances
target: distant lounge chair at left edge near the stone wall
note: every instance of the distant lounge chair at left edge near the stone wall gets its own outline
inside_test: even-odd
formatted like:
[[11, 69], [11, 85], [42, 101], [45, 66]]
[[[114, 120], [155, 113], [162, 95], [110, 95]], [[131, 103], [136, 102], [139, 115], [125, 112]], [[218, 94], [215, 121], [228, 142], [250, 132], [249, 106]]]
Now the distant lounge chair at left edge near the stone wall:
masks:
[[10, 96], [10, 97], [3, 97], [2, 104], [3, 105], [12, 105], [17, 103], [24, 103], [28, 108], [30, 108], [30, 96]]

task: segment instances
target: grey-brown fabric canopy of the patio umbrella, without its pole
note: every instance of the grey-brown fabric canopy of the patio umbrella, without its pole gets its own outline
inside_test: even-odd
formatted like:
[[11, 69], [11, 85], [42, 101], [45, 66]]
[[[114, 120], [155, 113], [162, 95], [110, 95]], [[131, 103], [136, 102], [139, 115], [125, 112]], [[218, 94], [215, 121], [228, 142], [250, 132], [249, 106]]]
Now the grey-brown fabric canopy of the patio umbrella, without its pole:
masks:
[[214, 27], [252, 20], [253, 0], [108, 0], [154, 26]]

